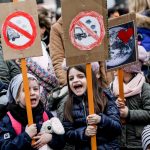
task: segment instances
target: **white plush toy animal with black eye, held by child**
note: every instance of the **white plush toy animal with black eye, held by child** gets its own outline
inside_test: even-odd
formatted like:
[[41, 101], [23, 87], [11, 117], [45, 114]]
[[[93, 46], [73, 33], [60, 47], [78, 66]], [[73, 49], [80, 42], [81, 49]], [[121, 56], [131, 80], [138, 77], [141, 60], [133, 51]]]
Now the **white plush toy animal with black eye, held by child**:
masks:
[[[65, 133], [64, 127], [57, 117], [52, 117], [43, 123], [41, 133], [55, 133], [62, 135]], [[42, 146], [39, 150], [52, 150], [47, 144]]]

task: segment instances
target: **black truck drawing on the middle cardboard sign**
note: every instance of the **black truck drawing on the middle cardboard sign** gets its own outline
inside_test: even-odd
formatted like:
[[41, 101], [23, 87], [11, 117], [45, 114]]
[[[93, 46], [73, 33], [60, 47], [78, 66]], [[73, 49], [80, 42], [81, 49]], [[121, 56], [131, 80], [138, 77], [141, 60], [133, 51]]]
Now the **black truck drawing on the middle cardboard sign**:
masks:
[[74, 37], [75, 39], [78, 39], [79, 41], [82, 40], [82, 38], [86, 38], [86, 33], [83, 32], [83, 30], [80, 27], [75, 27], [74, 29]]

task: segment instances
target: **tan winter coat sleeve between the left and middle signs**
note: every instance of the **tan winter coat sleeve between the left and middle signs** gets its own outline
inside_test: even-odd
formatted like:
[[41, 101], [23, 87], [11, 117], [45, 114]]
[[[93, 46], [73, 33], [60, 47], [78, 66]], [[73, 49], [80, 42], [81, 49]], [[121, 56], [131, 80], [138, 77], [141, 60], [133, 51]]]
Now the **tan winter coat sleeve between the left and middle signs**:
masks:
[[50, 32], [50, 56], [60, 85], [67, 83], [66, 71], [62, 69], [63, 59], [65, 58], [63, 43], [62, 18], [60, 18], [51, 27]]

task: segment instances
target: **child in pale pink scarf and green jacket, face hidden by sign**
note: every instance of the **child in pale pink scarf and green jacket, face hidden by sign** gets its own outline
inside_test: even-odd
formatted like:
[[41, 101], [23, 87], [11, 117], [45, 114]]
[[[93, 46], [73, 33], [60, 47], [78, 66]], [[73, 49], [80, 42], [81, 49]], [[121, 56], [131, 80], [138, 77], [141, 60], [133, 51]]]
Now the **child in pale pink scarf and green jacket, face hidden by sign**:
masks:
[[[141, 61], [147, 60], [147, 53], [138, 47], [139, 61], [123, 68], [123, 85], [125, 104], [117, 99], [120, 116], [126, 123], [123, 125], [121, 147], [127, 150], [142, 150], [141, 133], [150, 120], [150, 86], [145, 83], [141, 72]], [[113, 81], [112, 91], [119, 97], [118, 77]]]

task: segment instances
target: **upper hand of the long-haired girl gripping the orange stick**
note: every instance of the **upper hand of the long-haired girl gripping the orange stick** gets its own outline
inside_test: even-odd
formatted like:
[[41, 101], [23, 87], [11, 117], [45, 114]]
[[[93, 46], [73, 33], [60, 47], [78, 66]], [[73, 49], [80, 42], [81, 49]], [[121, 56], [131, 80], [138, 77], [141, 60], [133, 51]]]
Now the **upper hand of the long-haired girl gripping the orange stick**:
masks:
[[87, 116], [87, 123], [89, 125], [95, 125], [100, 123], [101, 121], [101, 116], [97, 115], [97, 114], [92, 114], [92, 115], [88, 115]]

